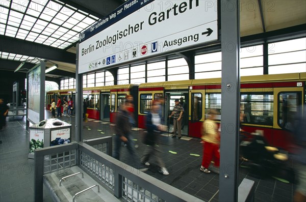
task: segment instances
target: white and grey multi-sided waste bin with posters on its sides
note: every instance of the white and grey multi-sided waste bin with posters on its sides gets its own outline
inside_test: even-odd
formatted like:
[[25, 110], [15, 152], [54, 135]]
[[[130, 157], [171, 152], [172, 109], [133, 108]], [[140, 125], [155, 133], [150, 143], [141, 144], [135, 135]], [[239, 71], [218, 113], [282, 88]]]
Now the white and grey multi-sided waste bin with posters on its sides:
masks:
[[71, 124], [59, 119], [46, 119], [29, 127], [29, 158], [34, 158], [34, 150], [63, 145], [71, 142]]

